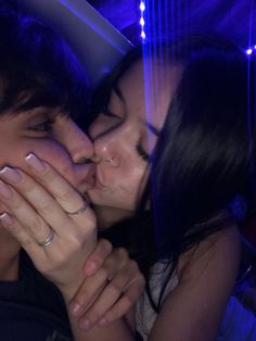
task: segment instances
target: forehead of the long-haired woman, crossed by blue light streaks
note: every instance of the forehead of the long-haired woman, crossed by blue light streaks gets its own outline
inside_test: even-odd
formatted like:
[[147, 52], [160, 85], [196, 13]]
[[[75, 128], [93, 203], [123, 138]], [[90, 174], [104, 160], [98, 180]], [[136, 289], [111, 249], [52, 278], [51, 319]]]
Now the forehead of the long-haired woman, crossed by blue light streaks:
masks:
[[157, 62], [148, 66], [141, 60], [136, 62], [119, 79], [118, 89], [133, 114], [158, 128], [180, 83], [182, 67]]

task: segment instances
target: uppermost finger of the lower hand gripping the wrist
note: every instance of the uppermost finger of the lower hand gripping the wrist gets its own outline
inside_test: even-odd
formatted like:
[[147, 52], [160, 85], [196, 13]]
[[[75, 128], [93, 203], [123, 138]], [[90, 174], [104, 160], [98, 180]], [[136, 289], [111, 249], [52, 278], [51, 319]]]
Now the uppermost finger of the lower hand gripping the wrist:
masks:
[[97, 247], [92, 254], [86, 261], [84, 265], [84, 271], [86, 276], [91, 276], [100, 269], [103, 265], [105, 258], [111, 254], [113, 248], [112, 244], [106, 239], [98, 240]]

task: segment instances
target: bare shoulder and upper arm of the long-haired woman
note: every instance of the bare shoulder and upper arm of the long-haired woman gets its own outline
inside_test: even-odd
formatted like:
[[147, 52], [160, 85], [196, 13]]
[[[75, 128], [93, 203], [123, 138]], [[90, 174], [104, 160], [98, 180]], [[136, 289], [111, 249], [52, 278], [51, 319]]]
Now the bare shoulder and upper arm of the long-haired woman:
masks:
[[239, 263], [240, 235], [235, 225], [212, 233], [182, 254], [178, 283], [161, 307], [151, 340], [188, 340], [188, 334], [190, 340], [216, 339]]

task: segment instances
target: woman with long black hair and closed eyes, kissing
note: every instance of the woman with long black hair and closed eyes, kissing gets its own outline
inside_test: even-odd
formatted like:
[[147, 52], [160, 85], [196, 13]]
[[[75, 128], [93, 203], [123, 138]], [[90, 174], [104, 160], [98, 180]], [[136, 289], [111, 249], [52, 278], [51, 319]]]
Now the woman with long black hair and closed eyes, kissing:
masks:
[[[89, 197], [102, 228], [116, 224], [106, 233], [113, 241], [121, 239], [148, 275], [149, 292], [137, 311], [143, 337], [215, 340], [240, 258], [240, 236], [227, 206], [236, 193], [248, 203], [251, 199], [247, 62], [233, 47], [213, 40], [188, 40], [176, 47], [163, 60], [159, 54], [146, 61], [152, 68], [149, 80], [158, 80], [157, 87], [151, 83], [149, 92], [141, 60], [111, 83], [111, 97], [90, 128], [97, 187]], [[146, 116], [149, 108], [154, 114]], [[25, 192], [21, 184], [4, 180]], [[27, 181], [50, 200], [31, 178]], [[31, 202], [26, 199], [22, 206]], [[12, 201], [1, 200], [24, 222]], [[118, 226], [124, 218], [129, 219]], [[33, 217], [26, 225], [28, 220]], [[7, 228], [30, 235], [15, 219]], [[40, 260], [37, 249], [33, 256]], [[107, 315], [100, 324], [106, 321]], [[87, 329], [90, 320], [84, 323]], [[126, 332], [123, 327], [115, 330], [118, 339]]]

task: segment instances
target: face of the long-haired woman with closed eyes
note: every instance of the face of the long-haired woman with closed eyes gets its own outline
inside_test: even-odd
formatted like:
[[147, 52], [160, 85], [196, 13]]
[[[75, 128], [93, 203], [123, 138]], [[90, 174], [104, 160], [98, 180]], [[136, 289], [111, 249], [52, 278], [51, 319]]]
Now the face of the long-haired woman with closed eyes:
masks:
[[94, 141], [97, 180], [88, 193], [94, 205], [136, 210], [180, 70], [151, 65], [145, 90], [143, 63], [139, 61], [112, 90], [106, 112], [100, 113], [89, 129]]

